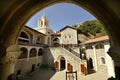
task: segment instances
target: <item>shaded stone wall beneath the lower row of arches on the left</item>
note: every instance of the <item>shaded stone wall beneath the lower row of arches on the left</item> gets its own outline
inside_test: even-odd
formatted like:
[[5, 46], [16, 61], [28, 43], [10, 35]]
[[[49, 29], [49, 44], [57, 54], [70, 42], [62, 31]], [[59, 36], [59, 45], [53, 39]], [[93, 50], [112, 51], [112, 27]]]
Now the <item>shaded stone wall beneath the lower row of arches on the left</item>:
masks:
[[16, 62], [15, 73], [26, 74], [38, 69], [42, 64], [42, 56], [26, 59], [19, 59]]

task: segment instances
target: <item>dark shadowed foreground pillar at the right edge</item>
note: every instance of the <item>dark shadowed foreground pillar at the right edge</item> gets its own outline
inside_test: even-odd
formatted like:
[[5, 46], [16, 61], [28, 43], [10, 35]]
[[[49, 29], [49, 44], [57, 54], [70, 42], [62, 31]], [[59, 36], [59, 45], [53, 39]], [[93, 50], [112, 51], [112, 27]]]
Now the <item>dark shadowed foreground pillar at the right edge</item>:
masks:
[[115, 78], [120, 80], [120, 47], [110, 47], [108, 54], [114, 60]]

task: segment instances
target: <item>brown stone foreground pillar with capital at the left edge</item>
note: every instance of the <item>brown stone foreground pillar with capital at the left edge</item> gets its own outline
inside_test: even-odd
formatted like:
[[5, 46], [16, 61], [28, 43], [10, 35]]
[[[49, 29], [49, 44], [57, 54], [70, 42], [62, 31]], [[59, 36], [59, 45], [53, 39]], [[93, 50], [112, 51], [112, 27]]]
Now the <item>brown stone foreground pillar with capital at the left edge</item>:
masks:
[[14, 66], [21, 51], [18, 45], [12, 45], [6, 49], [6, 55], [0, 59], [0, 80], [8, 80], [14, 73]]

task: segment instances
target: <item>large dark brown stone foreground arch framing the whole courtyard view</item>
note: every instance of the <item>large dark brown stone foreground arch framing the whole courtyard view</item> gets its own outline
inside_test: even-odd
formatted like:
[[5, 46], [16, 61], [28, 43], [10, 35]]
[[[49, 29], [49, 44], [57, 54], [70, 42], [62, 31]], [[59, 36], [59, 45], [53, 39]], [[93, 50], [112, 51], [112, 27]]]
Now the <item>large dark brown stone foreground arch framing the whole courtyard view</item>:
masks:
[[[116, 70], [120, 67], [120, 10], [119, 0], [1, 0], [0, 5], [0, 77], [1, 80], [6, 80], [7, 74], [4, 72], [7, 67], [4, 56], [8, 54], [7, 48], [15, 45], [22, 27], [36, 12], [50, 5], [70, 2], [74, 3], [92, 13], [105, 27], [111, 43], [109, 54], [112, 56]], [[13, 47], [13, 46], [12, 46]], [[16, 48], [15, 48], [16, 49]], [[16, 50], [15, 50], [16, 51]], [[8, 62], [7, 62], [8, 63]], [[2, 74], [4, 73], [4, 74]]]

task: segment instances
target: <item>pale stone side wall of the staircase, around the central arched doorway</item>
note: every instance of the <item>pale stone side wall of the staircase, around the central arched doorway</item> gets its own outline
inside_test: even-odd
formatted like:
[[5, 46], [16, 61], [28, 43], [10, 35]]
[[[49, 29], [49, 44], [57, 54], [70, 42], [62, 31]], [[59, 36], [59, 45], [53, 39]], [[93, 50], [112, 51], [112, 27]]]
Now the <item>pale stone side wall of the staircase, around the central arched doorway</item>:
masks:
[[[80, 72], [81, 59], [72, 54], [70, 51], [66, 50], [63, 47], [50, 47], [44, 50], [43, 64], [50, 67], [54, 67], [55, 61], [60, 61], [60, 58], [64, 57], [67, 63], [70, 63], [73, 67], [73, 71]], [[85, 62], [86, 64], [86, 62]], [[67, 68], [66, 68], [67, 70]]]

